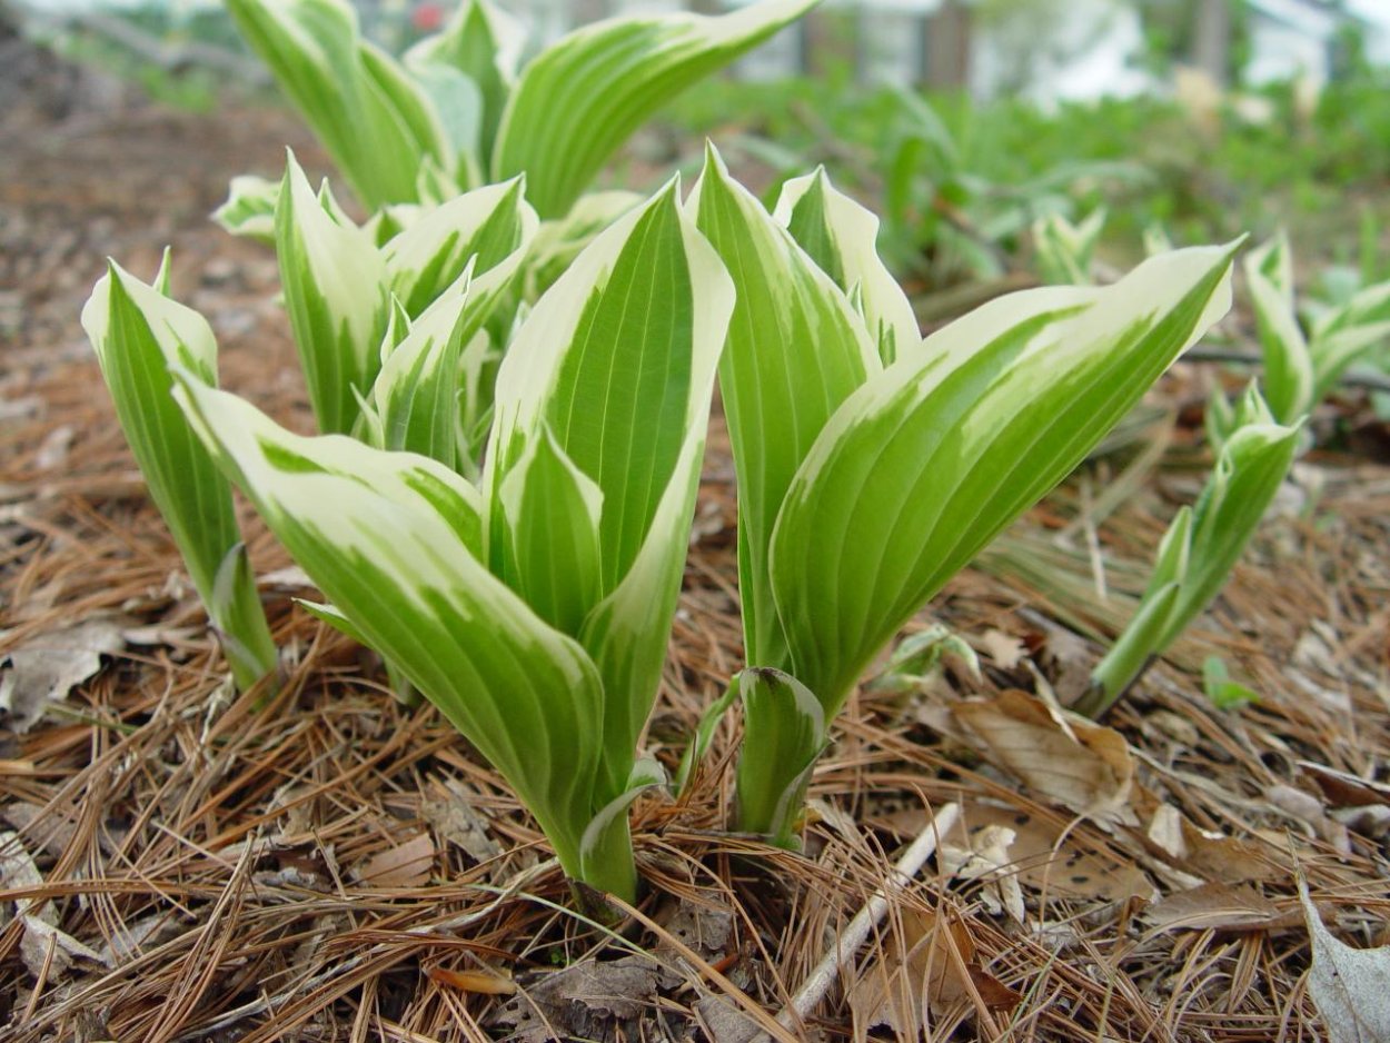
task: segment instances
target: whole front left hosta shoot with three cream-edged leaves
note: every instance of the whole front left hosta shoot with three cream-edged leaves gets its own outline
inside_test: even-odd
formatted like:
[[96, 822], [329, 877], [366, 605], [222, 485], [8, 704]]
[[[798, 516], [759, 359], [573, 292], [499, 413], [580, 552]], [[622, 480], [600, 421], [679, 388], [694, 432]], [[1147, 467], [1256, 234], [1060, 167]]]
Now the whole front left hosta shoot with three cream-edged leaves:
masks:
[[[603, 232], [517, 330], [481, 487], [416, 453], [293, 435], [179, 370], [199, 434], [328, 595], [316, 611], [498, 768], [571, 878], [628, 900], [627, 808], [663, 782], [635, 751], [733, 296], [674, 185]], [[448, 325], [427, 312], [396, 353]]]

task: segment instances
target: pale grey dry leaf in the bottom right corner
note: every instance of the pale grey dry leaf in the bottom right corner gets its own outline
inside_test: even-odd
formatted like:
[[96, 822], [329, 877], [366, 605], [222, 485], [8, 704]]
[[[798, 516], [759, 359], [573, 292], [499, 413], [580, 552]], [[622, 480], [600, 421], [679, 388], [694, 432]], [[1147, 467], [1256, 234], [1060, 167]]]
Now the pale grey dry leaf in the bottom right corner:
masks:
[[1332, 936], [1298, 879], [1312, 965], [1308, 992], [1327, 1026], [1327, 1043], [1384, 1043], [1390, 1040], [1390, 946], [1352, 948]]

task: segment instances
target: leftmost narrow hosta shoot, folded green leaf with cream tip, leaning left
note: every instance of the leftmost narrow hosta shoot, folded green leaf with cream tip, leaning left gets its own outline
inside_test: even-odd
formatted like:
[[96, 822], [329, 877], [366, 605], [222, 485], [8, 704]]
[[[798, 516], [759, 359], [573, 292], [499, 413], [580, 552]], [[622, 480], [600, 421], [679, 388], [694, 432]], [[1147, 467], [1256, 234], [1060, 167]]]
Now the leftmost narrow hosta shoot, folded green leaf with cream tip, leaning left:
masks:
[[170, 366], [217, 381], [217, 342], [200, 314], [171, 300], [168, 254], [147, 286], [111, 261], [82, 309], [115, 414], [207, 606], [239, 688], [275, 668], [275, 642], [245, 563], [232, 492], [170, 396]]

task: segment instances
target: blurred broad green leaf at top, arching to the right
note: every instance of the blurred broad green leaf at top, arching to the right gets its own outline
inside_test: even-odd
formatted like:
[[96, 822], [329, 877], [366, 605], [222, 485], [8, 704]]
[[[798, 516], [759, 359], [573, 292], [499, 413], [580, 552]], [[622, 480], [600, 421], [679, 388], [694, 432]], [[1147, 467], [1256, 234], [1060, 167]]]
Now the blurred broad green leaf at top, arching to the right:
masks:
[[816, 1], [613, 18], [564, 36], [523, 70], [498, 128], [492, 175], [525, 172], [541, 217], [562, 216], [648, 115]]

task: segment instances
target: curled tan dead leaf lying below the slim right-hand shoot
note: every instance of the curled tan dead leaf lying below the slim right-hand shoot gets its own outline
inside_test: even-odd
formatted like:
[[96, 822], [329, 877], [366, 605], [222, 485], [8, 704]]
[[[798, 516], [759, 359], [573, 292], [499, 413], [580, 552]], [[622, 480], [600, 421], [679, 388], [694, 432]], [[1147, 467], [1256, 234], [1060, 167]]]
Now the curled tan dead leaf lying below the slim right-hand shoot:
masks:
[[1134, 758], [1115, 729], [1052, 709], [1016, 688], [960, 702], [952, 713], [980, 740], [991, 763], [1034, 793], [1102, 826], [1138, 822], [1130, 807]]

